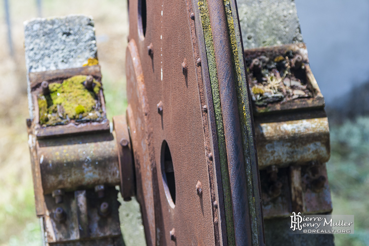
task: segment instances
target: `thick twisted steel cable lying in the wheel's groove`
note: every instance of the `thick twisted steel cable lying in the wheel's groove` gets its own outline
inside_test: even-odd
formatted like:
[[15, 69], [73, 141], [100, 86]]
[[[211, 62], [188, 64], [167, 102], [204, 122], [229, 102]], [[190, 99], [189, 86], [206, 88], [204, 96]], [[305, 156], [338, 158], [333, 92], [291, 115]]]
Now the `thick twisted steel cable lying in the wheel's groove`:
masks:
[[240, 136], [240, 118], [238, 115], [237, 94], [224, 3], [221, 0], [208, 1], [208, 8], [214, 41], [214, 55], [217, 65], [225, 144], [227, 149], [227, 164], [234, 214], [235, 242], [236, 245], [252, 245], [247, 178], [243, 158], [242, 139]]

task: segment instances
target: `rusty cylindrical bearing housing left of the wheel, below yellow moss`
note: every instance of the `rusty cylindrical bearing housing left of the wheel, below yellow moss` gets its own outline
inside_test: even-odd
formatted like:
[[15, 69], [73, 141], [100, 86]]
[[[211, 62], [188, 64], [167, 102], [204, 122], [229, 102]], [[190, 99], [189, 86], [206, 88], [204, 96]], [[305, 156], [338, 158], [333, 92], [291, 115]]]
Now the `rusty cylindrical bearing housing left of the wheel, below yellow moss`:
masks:
[[111, 133], [38, 139], [35, 162], [40, 166], [43, 193], [118, 185], [117, 153]]

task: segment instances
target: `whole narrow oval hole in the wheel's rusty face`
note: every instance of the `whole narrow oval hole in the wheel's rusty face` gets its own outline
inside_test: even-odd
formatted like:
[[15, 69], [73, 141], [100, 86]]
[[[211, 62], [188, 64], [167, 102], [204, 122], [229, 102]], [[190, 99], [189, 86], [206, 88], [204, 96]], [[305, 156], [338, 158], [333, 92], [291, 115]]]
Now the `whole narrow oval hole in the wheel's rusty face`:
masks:
[[170, 154], [168, 143], [164, 140], [161, 144], [161, 174], [166, 198], [170, 207], [175, 206], [175, 178], [172, 156]]

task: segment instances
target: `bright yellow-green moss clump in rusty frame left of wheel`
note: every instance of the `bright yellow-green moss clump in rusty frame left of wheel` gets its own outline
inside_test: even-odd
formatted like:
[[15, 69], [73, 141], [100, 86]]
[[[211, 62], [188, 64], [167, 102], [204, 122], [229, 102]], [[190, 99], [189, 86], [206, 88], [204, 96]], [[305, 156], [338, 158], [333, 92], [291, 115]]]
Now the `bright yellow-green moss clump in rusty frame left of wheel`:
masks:
[[87, 89], [85, 75], [77, 75], [62, 83], [49, 84], [50, 94], [38, 95], [39, 123], [42, 126], [63, 125], [76, 122], [100, 121], [103, 110], [99, 99], [101, 83], [93, 80], [93, 88]]

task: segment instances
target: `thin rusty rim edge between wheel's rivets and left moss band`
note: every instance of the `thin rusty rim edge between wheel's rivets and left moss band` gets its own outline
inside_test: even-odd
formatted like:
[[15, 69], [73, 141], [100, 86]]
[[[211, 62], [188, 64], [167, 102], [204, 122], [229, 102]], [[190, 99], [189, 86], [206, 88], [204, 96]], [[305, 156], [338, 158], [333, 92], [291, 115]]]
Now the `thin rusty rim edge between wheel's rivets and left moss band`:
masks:
[[[189, 22], [194, 26], [192, 28], [192, 42], [195, 52], [201, 59], [201, 69], [197, 68], [198, 74], [198, 86], [199, 86], [199, 94], [200, 101], [202, 105], [207, 106], [206, 112], [203, 113], [203, 125], [204, 129], [207, 129], [207, 133], [205, 135], [209, 135], [207, 144], [210, 146], [209, 152], [213, 154], [212, 161], [212, 173], [214, 180], [213, 182], [213, 191], [215, 193], [215, 201], [217, 203], [217, 207], [213, 206], [214, 213], [214, 221], [217, 219], [218, 223], [214, 223], [214, 233], [215, 233], [215, 243], [216, 245], [227, 245], [227, 234], [225, 227], [225, 215], [224, 215], [224, 202], [223, 202], [223, 189], [221, 182], [221, 173], [220, 173], [220, 163], [219, 163], [219, 150], [218, 150], [218, 141], [217, 141], [217, 133], [215, 126], [215, 116], [214, 116], [214, 107], [213, 107], [213, 99], [211, 93], [211, 85], [209, 78], [209, 68], [208, 68], [208, 60], [206, 56], [206, 46], [204, 40], [204, 32], [202, 28], [201, 15], [200, 10], [198, 8], [198, 1], [193, 0], [193, 6], [191, 4], [191, 0], [187, 0], [189, 9]], [[194, 13], [194, 21], [191, 21], [191, 13]], [[195, 31], [196, 29], [196, 31]], [[196, 35], [197, 34], [197, 35]], [[204, 101], [204, 102], [203, 102]], [[204, 111], [204, 110], [203, 110]], [[210, 170], [209, 170], [210, 173]], [[213, 199], [212, 199], [213, 200]], [[214, 201], [212, 201], [214, 203]], [[216, 215], [215, 215], [216, 213]]]

